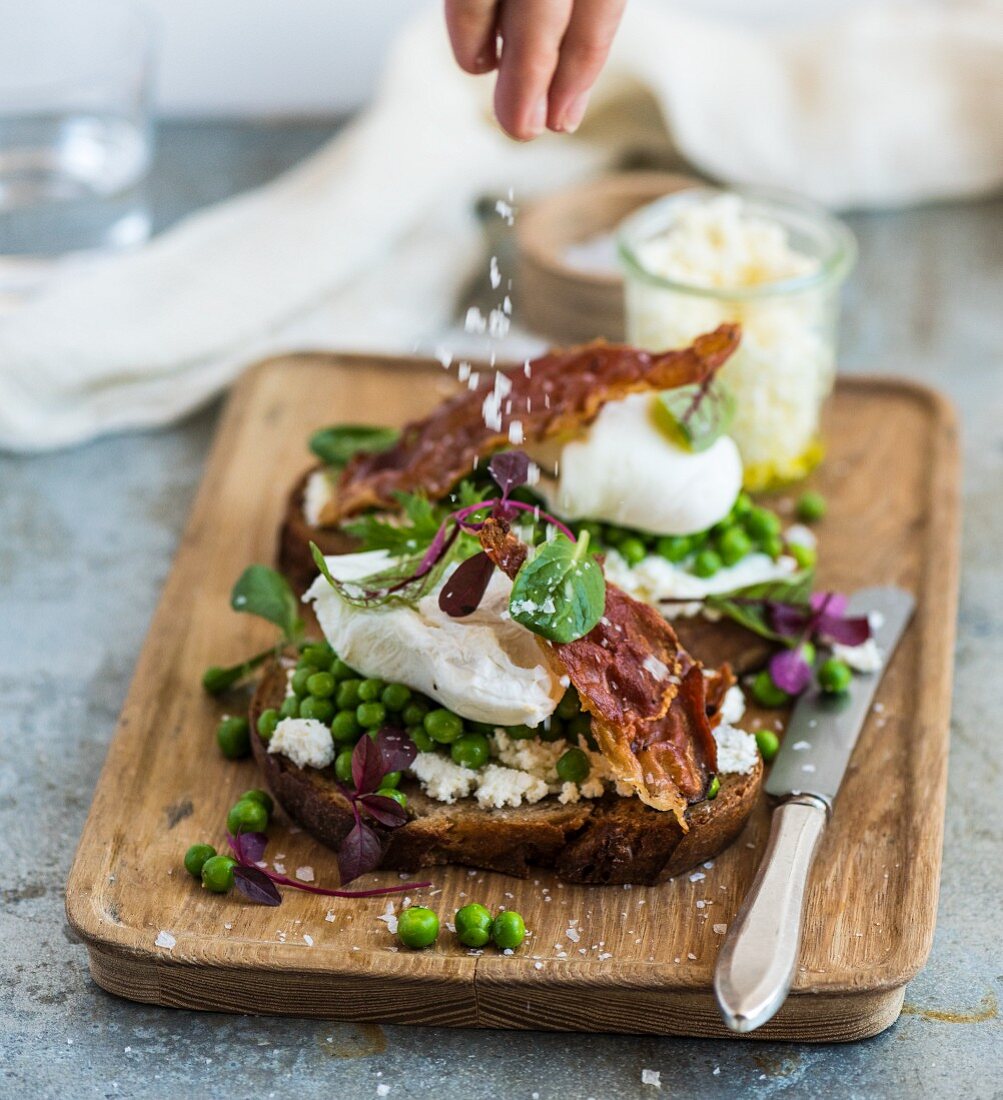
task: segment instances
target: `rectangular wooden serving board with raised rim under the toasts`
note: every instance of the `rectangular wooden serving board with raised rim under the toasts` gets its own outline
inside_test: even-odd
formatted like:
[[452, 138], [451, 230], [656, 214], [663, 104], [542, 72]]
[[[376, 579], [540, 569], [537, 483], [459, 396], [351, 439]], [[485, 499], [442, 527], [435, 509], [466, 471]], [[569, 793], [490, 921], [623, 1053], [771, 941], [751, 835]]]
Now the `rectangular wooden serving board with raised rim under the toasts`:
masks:
[[[274, 638], [232, 613], [229, 593], [247, 563], [273, 559], [286, 493], [309, 464], [308, 432], [339, 420], [397, 424], [447, 386], [427, 361], [304, 354], [263, 363], [233, 392], [67, 884], [91, 974], [122, 997], [190, 1009], [728, 1035], [712, 974], [763, 850], [765, 805], [713, 867], [659, 887], [434, 869], [433, 888], [412, 897], [443, 922], [467, 901], [525, 915], [532, 936], [510, 957], [470, 954], [444, 930], [429, 950], [398, 950], [378, 920], [385, 899], [287, 890], [269, 909], [209, 894], [181, 867], [190, 844], [224, 845], [227, 810], [257, 782], [253, 762], [217, 750], [224, 708], [199, 676]], [[846, 378], [826, 438], [813, 479], [829, 501], [820, 584], [901, 584], [918, 614], [822, 843], [793, 994], [753, 1038], [830, 1042], [888, 1027], [926, 959], [937, 909], [958, 580], [955, 420], [928, 389]], [[310, 867], [319, 883], [337, 882], [333, 855], [306, 834], [276, 822], [271, 836], [269, 858], [288, 873]]]

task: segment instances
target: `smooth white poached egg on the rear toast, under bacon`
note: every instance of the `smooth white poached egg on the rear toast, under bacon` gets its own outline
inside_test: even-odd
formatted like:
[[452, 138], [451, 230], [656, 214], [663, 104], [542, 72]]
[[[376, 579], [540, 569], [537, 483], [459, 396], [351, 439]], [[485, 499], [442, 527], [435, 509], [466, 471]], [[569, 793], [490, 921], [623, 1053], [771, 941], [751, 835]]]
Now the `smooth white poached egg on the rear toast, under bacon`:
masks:
[[698, 452], [680, 447], [658, 427], [655, 400], [609, 402], [583, 439], [564, 444], [549, 464], [553, 476], [537, 486], [553, 512], [654, 535], [693, 535], [728, 515], [742, 482], [734, 440], [723, 436]]

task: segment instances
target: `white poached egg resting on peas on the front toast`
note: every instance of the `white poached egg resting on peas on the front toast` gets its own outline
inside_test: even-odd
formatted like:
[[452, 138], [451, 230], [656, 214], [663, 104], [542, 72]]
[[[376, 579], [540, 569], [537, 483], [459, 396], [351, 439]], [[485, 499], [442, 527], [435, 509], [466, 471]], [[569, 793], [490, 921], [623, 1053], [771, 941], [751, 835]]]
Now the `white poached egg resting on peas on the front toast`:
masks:
[[[371, 550], [327, 561], [332, 575], [351, 582], [392, 559]], [[416, 606], [357, 607], [320, 576], [304, 600], [313, 603], [334, 651], [364, 676], [407, 684], [472, 722], [536, 727], [549, 718], [564, 688], [536, 635], [509, 617], [511, 581], [496, 570], [481, 606], [462, 619], [440, 609], [440, 590]]]

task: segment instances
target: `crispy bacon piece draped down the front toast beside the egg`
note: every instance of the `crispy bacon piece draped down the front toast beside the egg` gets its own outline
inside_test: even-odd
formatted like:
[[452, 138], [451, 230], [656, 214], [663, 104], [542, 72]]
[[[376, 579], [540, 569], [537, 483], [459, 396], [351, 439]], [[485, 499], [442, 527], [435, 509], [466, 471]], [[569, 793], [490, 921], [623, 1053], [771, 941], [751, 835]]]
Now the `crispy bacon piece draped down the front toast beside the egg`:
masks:
[[[480, 538], [492, 561], [515, 578], [526, 561], [522, 542], [495, 519], [485, 520]], [[609, 583], [596, 627], [549, 648], [592, 714], [593, 734], [617, 779], [687, 828], [686, 806], [705, 796], [717, 770], [708, 686], [716, 717], [730, 672], [708, 680], [658, 612]]]

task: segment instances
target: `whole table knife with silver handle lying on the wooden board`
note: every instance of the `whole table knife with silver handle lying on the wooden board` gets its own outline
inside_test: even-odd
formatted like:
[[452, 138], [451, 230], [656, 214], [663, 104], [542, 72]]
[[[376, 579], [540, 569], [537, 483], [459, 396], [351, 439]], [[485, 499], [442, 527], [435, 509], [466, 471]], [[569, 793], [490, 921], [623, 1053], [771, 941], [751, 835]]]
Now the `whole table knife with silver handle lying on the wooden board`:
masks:
[[867, 615], [882, 668], [855, 674], [848, 691], [811, 686], [794, 705], [764, 784], [776, 801], [770, 840], [756, 879], [721, 947], [714, 992], [731, 1031], [764, 1024], [786, 1000], [801, 948], [808, 873], [833, 802], [915, 601], [902, 588], [863, 588], [847, 615]]

